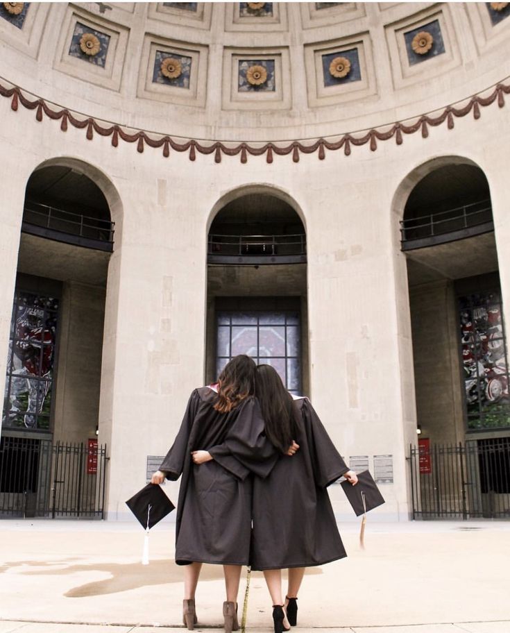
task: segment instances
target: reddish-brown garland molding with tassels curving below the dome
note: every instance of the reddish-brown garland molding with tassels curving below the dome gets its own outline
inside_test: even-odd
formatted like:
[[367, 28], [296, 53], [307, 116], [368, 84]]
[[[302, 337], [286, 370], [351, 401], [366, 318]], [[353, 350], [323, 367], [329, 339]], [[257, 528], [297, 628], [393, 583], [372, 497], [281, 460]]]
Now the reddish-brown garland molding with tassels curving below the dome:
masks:
[[[503, 81], [507, 81], [508, 79], [509, 78], [507, 77]], [[265, 154], [266, 162], [272, 163], [274, 154], [279, 156], [292, 154], [292, 160], [294, 162], [299, 162], [300, 153], [312, 154], [318, 152], [319, 160], [324, 160], [326, 149], [329, 151], [336, 151], [343, 148], [343, 153], [346, 156], [350, 156], [352, 145], [362, 146], [367, 143], [370, 144], [371, 151], [376, 151], [377, 141], [388, 141], [394, 137], [396, 144], [402, 145], [404, 141], [403, 135], [414, 134], [418, 132], [418, 130], [421, 130], [423, 138], [427, 138], [429, 135], [429, 126], [440, 126], [445, 121], [447, 122], [448, 129], [452, 130], [454, 128], [455, 117], [465, 117], [470, 112], [473, 112], [473, 118], [479, 119], [481, 117], [480, 108], [486, 108], [486, 106], [491, 105], [496, 100], [498, 101], [498, 106], [502, 108], [504, 106], [504, 95], [510, 94], [510, 84], [505, 84], [503, 81], [486, 88], [486, 90], [482, 90], [463, 101], [458, 101], [456, 104], [446, 105], [444, 108], [436, 110], [436, 112], [439, 112], [436, 116], [425, 114], [405, 119], [407, 121], [414, 121], [409, 125], [405, 125], [401, 121], [397, 121], [393, 124], [367, 130], [365, 134], [362, 133], [364, 131], [362, 130], [360, 133], [344, 133], [318, 138], [309, 144], [305, 140], [291, 141], [283, 146], [280, 146], [280, 144], [277, 144], [276, 142], [267, 142], [265, 144], [239, 142], [235, 144], [235, 142], [224, 143], [221, 141], [211, 141], [210, 144], [207, 144], [207, 141], [205, 141], [205, 144], [203, 145], [202, 142], [199, 142], [198, 140], [184, 140], [182, 137], [169, 135], [154, 136], [153, 133], [149, 134], [144, 130], [134, 130], [133, 133], [129, 133], [126, 130], [130, 130], [132, 128], [126, 128], [117, 124], [103, 126], [98, 122], [100, 119], [94, 119], [93, 117], [86, 117], [85, 119], [76, 118], [76, 112], [73, 113], [71, 110], [67, 110], [65, 108], [58, 109], [58, 105], [51, 103], [51, 101], [41, 99], [40, 97], [36, 98], [35, 101], [31, 101], [24, 95], [19, 87], [12, 84], [12, 87], [6, 87], [1, 81], [0, 95], [6, 97], [7, 99], [11, 99], [10, 108], [15, 112], [18, 110], [20, 103], [27, 110], [36, 110], [35, 119], [37, 121], [42, 121], [44, 115], [53, 120], [61, 119], [60, 129], [62, 132], [67, 131], [67, 126], [69, 124], [78, 129], [87, 128], [86, 137], [90, 141], [94, 138], [95, 132], [101, 136], [111, 136], [112, 146], [114, 147], [118, 146], [119, 140], [126, 143], [136, 143], [137, 151], [139, 153], [144, 151], [145, 145], [153, 148], [162, 147], [165, 158], [170, 155], [170, 149], [178, 152], [189, 152], [189, 160], [196, 159], [197, 151], [201, 154], [214, 153], [214, 162], [217, 163], [221, 162], [223, 155], [235, 156], [240, 154], [241, 163], [245, 164], [248, 162], [248, 154], [252, 156]], [[482, 96], [482, 94], [488, 92], [491, 88], [493, 91], [490, 94]], [[466, 102], [465, 105], [456, 107], [459, 103], [464, 102]], [[101, 122], [104, 123], [104, 121]], [[183, 142], [178, 142], [176, 139], [182, 140]]]

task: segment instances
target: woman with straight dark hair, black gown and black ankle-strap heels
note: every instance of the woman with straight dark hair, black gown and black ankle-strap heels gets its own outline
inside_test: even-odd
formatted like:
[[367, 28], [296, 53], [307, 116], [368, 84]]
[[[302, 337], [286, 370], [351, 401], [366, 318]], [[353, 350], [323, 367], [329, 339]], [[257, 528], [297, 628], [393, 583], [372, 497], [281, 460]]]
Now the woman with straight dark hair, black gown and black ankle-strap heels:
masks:
[[[271, 443], [280, 453], [289, 439], [299, 446], [292, 459], [280, 455], [270, 475], [253, 482], [250, 564], [264, 571], [279, 633], [296, 624], [305, 567], [346, 557], [327, 487], [342, 475], [354, 485], [357, 476], [339, 455], [309, 400], [294, 400], [273, 367], [257, 367], [255, 394]], [[285, 602], [282, 568], [289, 568]]]

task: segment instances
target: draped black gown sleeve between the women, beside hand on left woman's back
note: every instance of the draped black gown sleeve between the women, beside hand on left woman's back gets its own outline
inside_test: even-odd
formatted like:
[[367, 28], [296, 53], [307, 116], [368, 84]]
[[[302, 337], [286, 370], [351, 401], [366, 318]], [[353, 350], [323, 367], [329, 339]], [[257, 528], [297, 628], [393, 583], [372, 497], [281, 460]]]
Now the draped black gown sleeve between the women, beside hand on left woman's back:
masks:
[[[208, 448], [214, 460], [234, 475], [253, 473], [265, 479], [278, 461], [278, 450], [266, 438], [256, 398], [247, 398], [223, 444]], [[244, 476], [239, 473], [246, 473]]]

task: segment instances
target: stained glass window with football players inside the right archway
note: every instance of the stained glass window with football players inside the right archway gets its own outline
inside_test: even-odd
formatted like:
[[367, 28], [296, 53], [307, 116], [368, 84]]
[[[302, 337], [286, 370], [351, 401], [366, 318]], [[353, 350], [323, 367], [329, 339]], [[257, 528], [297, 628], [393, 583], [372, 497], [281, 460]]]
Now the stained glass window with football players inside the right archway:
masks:
[[468, 429], [510, 427], [507, 344], [499, 290], [459, 297]]

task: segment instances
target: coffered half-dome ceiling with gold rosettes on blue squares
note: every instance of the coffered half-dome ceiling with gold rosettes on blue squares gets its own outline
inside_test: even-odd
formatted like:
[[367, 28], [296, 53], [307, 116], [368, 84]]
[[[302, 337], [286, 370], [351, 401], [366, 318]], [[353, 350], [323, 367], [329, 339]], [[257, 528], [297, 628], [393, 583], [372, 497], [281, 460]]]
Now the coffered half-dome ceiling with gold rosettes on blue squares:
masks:
[[510, 75], [510, 3], [0, 3], [0, 17], [4, 89], [174, 139], [381, 128]]

